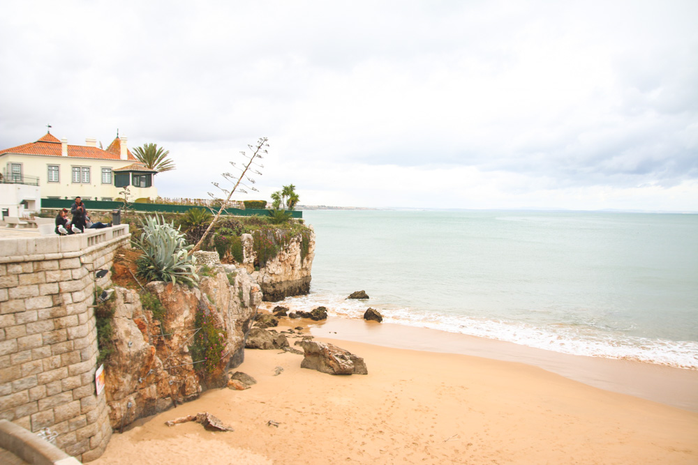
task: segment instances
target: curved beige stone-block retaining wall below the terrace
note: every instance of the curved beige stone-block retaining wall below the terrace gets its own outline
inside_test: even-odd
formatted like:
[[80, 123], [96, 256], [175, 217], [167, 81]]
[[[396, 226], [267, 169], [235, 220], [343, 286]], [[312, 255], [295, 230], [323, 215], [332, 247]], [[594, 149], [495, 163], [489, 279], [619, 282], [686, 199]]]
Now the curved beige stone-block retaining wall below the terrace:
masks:
[[111, 437], [105, 395], [96, 395], [93, 270], [109, 269], [128, 225], [73, 236], [0, 239], [0, 419], [49, 429], [88, 462]]

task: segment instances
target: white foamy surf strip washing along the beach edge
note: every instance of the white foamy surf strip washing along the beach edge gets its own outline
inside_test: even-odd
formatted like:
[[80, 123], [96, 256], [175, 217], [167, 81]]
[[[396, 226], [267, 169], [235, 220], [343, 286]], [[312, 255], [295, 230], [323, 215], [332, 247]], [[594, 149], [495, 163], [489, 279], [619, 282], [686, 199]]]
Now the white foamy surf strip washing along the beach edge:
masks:
[[634, 337], [624, 334], [623, 330], [612, 330], [594, 323], [557, 323], [537, 327], [503, 319], [419, 312], [408, 307], [375, 305], [365, 300], [348, 300], [346, 296], [319, 293], [288, 298], [281, 303], [267, 305], [269, 309], [275, 305], [283, 305], [291, 311], [302, 312], [309, 312], [322, 305], [327, 307], [328, 314], [348, 319], [361, 319], [366, 308], [371, 306], [383, 314], [385, 323], [487, 337], [572, 355], [637, 360], [698, 369], [698, 342]]

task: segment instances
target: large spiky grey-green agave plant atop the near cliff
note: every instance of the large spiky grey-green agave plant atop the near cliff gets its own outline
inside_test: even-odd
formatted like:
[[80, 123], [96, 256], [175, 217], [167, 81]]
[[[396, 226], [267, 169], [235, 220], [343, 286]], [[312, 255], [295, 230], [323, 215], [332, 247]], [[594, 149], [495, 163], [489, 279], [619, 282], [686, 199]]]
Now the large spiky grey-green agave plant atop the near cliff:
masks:
[[199, 277], [187, 253], [193, 246], [186, 243], [184, 234], [158, 215], [146, 217], [141, 227], [140, 238], [131, 241], [143, 251], [136, 259], [138, 274], [148, 281], [176, 284], [179, 279], [195, 286]]

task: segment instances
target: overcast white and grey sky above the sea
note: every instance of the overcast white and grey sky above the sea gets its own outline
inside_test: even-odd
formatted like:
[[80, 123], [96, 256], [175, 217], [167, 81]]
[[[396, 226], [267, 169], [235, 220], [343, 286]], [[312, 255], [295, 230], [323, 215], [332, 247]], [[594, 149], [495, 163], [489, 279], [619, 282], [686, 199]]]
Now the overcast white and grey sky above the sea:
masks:
[[[698, 211], [698, 2], [0, 3], [0, 148], [156, 143], [162, 197]], [[249, 184], [249, 183], [248, 183]]]

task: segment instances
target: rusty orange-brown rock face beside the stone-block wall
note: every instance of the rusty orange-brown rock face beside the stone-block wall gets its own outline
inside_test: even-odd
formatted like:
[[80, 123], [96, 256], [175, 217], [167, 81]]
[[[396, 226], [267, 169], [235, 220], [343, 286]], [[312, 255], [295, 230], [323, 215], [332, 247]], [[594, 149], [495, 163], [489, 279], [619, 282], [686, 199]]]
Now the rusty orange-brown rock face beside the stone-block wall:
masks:
[[[164, 282], [146, 288], [165, 307], [162, 320], [142, 307], [136, 291], [114, 289], [114, 353], [105, 365], [105, 391], [115, 429], [207, 388], [225, 386], [225, 369], [242, 363], [244, 341], [262, 302], [259, 285], [246, 270], [232, 266], [217, 265], [216, 274], [202, 277], [199, 288]], [[226, 335], [225, 354], [212, 372], [202, 372], [188, 350], [198, 309]]]

